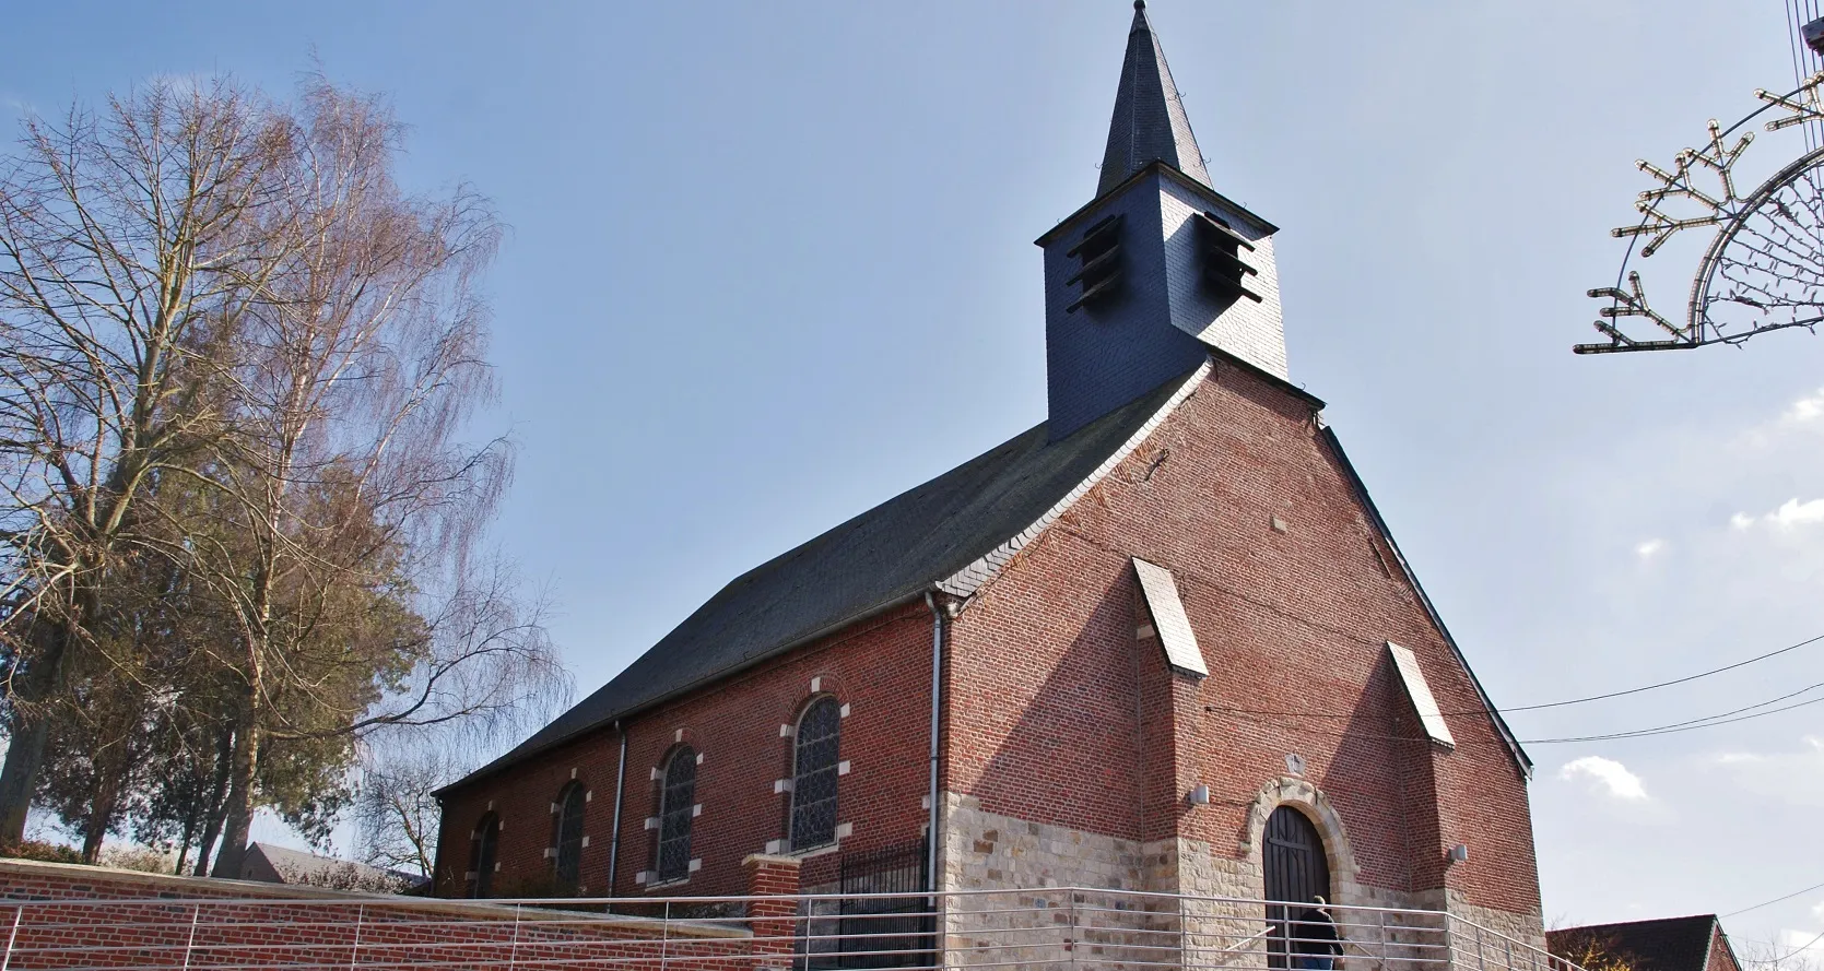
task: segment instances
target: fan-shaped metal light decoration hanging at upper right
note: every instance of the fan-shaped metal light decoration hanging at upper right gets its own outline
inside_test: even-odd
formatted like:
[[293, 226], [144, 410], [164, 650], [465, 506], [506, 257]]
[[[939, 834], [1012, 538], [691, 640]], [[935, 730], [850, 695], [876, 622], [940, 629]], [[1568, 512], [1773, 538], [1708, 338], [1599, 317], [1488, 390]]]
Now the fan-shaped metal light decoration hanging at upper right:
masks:
[[[1609, 301], [1596, 321], [1607, 341], [1574, 352], [1740, 344], [1757, 333], [1824, 322], [1824, 148], [1802, 153], [1746, 195], [1735, 179], [1755, 140], [1753, 131], [1736, 131], [1769, 113], [1767, 131], [1824, 120], [1820, 87], [1824, 73], [1786, 95], [1755, 91], [1758, 109], [1729, 128], [1711, 120], [1702, 148], [1680, 151], [1671, 168], [1636, 162], [1656, 186], [1634, 202], [1640, 222], [1611, 231], [1631, 240], [1614, 286], [1589, 291]], [[1647, 299], [1634, 261], [1693, 233], [1713, 235], [1691, 277], [1685, 312], [1667, 317]]]

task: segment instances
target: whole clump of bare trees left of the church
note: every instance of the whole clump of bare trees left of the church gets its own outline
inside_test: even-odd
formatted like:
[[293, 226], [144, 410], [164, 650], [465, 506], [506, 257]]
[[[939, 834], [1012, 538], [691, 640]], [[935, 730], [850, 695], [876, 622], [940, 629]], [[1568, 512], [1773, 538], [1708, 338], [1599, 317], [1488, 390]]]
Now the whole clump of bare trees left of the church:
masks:
[[171, 641], [182, 683], [133, 681], [184, 765], [146, 813], [202, 853], [219, 831], [219, 874], [257, 805], [326, 833], [367, 732], [485, 736], [567, 692], [472, 556], [511, 470], [460, 439], [492, 394], [500, 228], [467, 189], [401, 191], [399, 131], [323, 78], [290, 104], [162, 82], [27, 122], [0, 168], [0, 842], [75, 680], [148, 667], [109, 639], [135, 557], [212, 634]]

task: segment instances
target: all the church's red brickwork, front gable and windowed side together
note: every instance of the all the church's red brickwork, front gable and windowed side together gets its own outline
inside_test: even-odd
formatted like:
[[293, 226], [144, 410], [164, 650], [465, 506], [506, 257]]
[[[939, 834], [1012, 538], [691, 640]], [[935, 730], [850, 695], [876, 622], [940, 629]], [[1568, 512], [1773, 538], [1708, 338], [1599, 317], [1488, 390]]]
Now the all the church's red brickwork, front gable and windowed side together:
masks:
[[[1284, 530], [1273, 528], [1273, 519]], [[1173, 674], [1129, 557], [1176, 576], [1211, 676]], [[1428, 741], [1386, 641], [1412, 649], [1456, 734]], [[502, 814], [496, 894], [551, 893], [551, 802], [589, 791], [582, 893], [635, 896], [653, 869], [651, 771], [679, 738], [704, 754], [702, 871], [668, 894], [741, 893], [741, 860], [786, 834], [792, 723], [810, 680], [852, 707], [843, 721], [845, 851], [917, 840], [927, 811], [930, 614], [912, 603], [819, 645], [715, 683], [627, 723], [620, 871], [607, 880], [618, 738], [598, 731], [452, 794], [438, 869], [461, 893], [469, 834]], [[1394, 891], [1448, 885], [1470, 904], [1538, 911], [1525, 780], [1481, 714], [1468, 672], [1432, 625], [1357, 501], [1310, 406], [1218, 366], [1120, 468], [1029, 545], [952, 621], [943, 789], [989, 813], [1133, 840], [1182, 833], [1218, 853], [1246, 836], [1260, 785], [1306, 760], [1306, 778], [1352, 838], [1359, 880]], [[1302, 712], [1302, 714], [1293, 714]], [[682, 736], [680, 736], [682, 732]], [[1213, 789], [1191, 809], [1184, 792]], [[1470, 845], [1470, 862], [1445, 853]], [[834, 880], [810, 858], [803, 884]]]

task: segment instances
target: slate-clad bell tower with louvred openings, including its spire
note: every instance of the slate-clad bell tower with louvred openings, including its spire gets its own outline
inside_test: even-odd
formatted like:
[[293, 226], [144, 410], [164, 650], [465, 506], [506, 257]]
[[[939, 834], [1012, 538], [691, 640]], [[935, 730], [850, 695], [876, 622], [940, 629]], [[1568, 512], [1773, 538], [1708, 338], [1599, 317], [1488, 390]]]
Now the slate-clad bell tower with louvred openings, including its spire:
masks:
[[1211, 350], [1286, 379], [1275, 231], [1211, 188], [1145, 0], [1135, 0], [1096, 199], [1038, 239], [1051, 439]]

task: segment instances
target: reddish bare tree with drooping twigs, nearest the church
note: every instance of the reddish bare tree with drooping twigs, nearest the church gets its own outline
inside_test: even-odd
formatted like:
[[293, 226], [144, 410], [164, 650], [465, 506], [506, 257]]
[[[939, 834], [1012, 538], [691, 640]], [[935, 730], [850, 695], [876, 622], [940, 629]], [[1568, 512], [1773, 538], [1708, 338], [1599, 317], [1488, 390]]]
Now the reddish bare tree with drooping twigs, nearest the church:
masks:
[[[283, 239], [226, 355], [219, 454], [186, 470], [215, 530], [181, 530], [235, 630], [217, 874], [235, 874], [266, 743], [489, 723], [564, 681], [544, 629], [471, 552], [503, 441], [458, 434], [492, 394], [472, 290], [498, 226], [458, 189], [392, 180], [399, 126], [314, 80], [259, 233]], [[182, 519], [190, 512], [173, 512]]]

